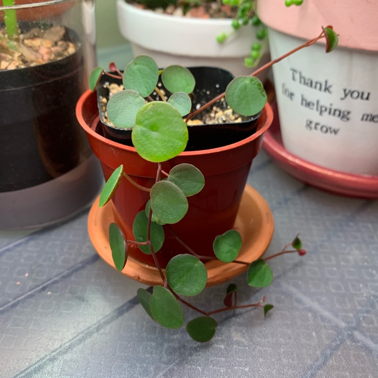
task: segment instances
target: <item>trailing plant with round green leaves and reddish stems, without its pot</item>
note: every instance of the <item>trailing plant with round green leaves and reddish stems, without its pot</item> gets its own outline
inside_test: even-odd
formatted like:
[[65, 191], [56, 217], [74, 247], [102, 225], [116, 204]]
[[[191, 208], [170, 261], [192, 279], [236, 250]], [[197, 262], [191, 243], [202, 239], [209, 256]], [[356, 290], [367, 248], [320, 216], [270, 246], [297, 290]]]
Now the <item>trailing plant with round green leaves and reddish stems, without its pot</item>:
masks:
[[[152, 255], [161, 277], [161, 285], [153, 287], [152, 294], [138, 290], [138, 298], [149, 316], [163, 327], [180, 328], [184, 325], [184, 314], [180, 303], [196, 310], [200, 316], [186, 324], [188, 334], [196, 341], [207, 342], [215, 334], [217, 322], [213, 315], [237, 308], [262, 307], [264, 314], [272, 304], [265, 303], [265, 296], [257, 303], [238, 304], [237, 287], [230, 284], [226, 290], [224, 306], [214, 310], [204, 310], [188, 302], [183, 296], [195, 296], [202, 292], [207, 283], [207, 270], [203, 263], [218, 259], [223, 263], [243, 264], [247, 266], [246, 280], [249, 286], [266, 287], [273, 281], [273, 273], [267, 261], [287, 253], [306, 253], [298, 235], [285, 245], [277, 254], [260, 258], [253, 262], [237, 260], [242, 245], [240, 234], [229, 230], [215, 238], [214, 256], [204, 257], [188, 247], [171, 228], [170, 224], [179, 222], [188, 209], [187, 197], [194, 196], [204, 187], [205, 181], [201, 171], [190, 164], [179, 164], [169, 172], [162, 170], [162, 162], [180, 154], [188, 140], [188, 120], [204, 108], [210, 106], [222, 96], [228, 105], [239, 114], [250, 116], [260, 112], [266, 104], [267, 97], [262, 83], [255, 78], [261, 70], [292, 54], [326, 38], [326, 51], [333, 50], [338, 42], [332, 27], [323, 28], [322, 33], [275, 59], [251, 76], [237, 77], [230, 82], [225, 93], [217, 96], [192, 113], [190, 93], [195, 82], [192, 74], [180, 66], [170, 66], [160, 71], [156, 62], [147, 55], [137, 56], [125, 68], [123, 75], [111, 64], [112, 73], [106, 75], [122, 77], [124, 90], [114, 94], [108, 102], [107, 113], [111, 122], [118, 128], [132, 128], [132, 141], [137, 153], [144, 159], [157, 163], [156, 180], [152, 187], [141, 187], [123, 171], [123, 165], [114, 170], [106, 182], [100, 196], [100, 207], [104, 206], [117, 189], [123, 178], [128, 179], [143, 191], [150, 193], [150, 200], [144, 211], [137, 214], [133, 233], [135, 240], [125, 239], [122, 230], [115, 223], [109, 225], [109, 243], [115, 268], [122, 271], [128, 259], [128, 246], [138, 245], [140, 250]], [[90, 87], [94, 90], [101, 75], [102, 68], [95, 69], [90, 77]], [[122, 76], [121, 76], [122, 75]], [[157, 86], [161, 76], [164, 87], [172, 93], [166, 98]], [[157, 94], [158, 100], [152, 98]], [[165, 271], [161, 268], [156, 254], [159, 253], [165, 239], [163, 225], [170, 230], [186, 249], [186, 254], [173, 257]]]

